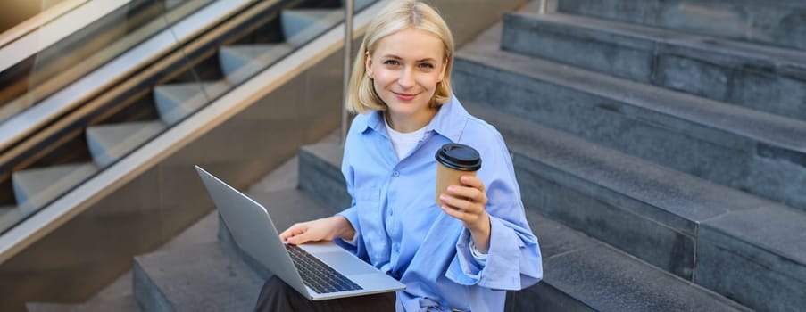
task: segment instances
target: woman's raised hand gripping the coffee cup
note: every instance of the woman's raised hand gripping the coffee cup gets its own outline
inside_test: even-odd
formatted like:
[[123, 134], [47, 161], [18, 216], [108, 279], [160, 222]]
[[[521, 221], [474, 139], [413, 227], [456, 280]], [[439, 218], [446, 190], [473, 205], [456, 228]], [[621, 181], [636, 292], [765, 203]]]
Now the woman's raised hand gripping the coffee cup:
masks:
[[448, 186], [447, 193], [439, 195], [442, 210], [458, 218], [470, 231], [476, 249], [486, 253], [490, 247], [490, 216], [484, 209], [487, 195], [484, 183], [475, 176], [461, 176], [462, 185]]

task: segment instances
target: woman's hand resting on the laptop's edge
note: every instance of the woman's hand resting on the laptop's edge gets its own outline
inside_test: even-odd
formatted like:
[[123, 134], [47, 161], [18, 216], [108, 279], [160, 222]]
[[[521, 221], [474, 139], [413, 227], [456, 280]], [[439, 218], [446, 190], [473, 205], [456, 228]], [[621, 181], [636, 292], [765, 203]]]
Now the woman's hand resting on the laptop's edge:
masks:
[[280, 233], [280, 239], [299, 245], [305, 242], [332, 241], [336, 238], [352, 239], [355, 229], [347, 218], [334, 216], [296, 223]]

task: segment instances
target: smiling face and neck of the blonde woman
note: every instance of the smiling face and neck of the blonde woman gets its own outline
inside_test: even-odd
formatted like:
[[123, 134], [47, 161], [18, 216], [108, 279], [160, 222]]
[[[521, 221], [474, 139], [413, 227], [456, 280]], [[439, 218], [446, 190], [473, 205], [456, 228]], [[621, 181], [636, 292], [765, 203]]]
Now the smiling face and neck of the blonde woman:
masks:
[[388, 107], [393, 127], [412, 120], [427, 124], [433, 117], [428, 103], [436, 83], [445, 78], [444, 51], [439, 37], [420, 29], [403, 29], [378, 40], [367, 58], [367, 74]]

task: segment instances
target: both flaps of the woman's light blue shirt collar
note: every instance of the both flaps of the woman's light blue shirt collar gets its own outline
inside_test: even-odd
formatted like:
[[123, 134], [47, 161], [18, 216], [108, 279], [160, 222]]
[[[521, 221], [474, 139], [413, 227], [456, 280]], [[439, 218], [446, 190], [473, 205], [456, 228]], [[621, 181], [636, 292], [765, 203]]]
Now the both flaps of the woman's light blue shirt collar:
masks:
[[[359, 125], [359, 128], [363, 129], [361, 132], [364, 133], [372, 129], [381, 135], [386, 135], [383, 111], [370, 111], [368, 115], [367, 119], [364, 119], [366, 120], [366, 125]], [[426, 132], [435, 131], [454, 143], [458, 142], [468, 117], [468, 111], [461, 106], [456, 96], [451, 94], [451, 100], [442, 104], [439, 111], [436, 111], [434, 119], [431, 119], [431, 122], [428, 123], [428, 127], [426, 127]]]

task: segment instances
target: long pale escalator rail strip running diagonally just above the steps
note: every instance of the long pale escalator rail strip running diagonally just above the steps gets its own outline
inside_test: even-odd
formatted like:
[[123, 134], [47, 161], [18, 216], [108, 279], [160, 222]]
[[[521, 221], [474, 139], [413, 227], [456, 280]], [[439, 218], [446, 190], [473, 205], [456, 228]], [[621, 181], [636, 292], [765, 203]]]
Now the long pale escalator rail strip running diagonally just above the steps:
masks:
[[10, 148], [65, 111], [70, 111], [91, 94], [96, 94], [96, 91], [105, 87], [105, 83], [100, 82], [116, 81], [120, 77], [125, 77], [139, 65], [157, 58], [178, 43], [196, 36], [196, 31], [204, 29], [204, 25], [220, 21], [229, 12], [240, 10], [250, 2], [251, 0], [215, 1], [181, 21], [173, 23], [170, 28], [163, 29], [154, 37], [120, 54], [111, 62], [91, 71], [40, 103], [31, 106], [28, 110], [6, 119], [0, 123], [0, 151]]

